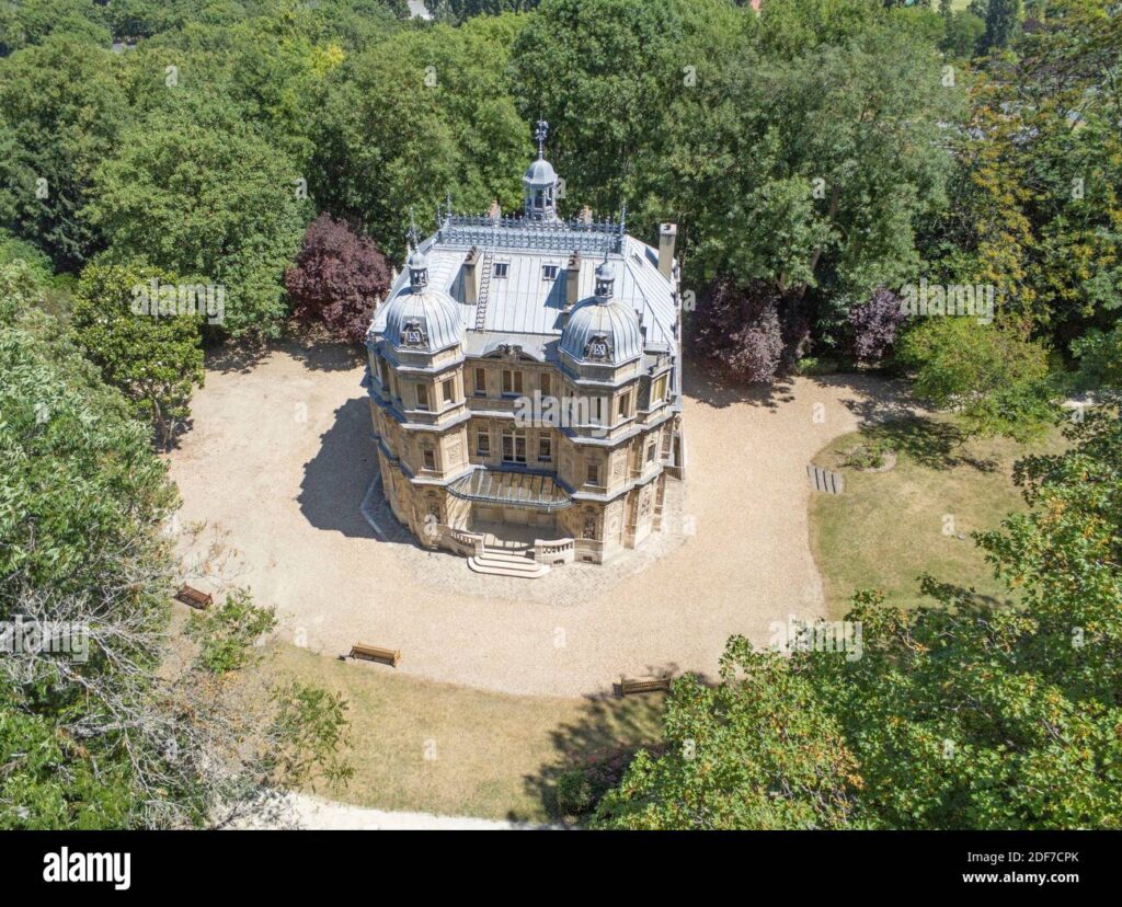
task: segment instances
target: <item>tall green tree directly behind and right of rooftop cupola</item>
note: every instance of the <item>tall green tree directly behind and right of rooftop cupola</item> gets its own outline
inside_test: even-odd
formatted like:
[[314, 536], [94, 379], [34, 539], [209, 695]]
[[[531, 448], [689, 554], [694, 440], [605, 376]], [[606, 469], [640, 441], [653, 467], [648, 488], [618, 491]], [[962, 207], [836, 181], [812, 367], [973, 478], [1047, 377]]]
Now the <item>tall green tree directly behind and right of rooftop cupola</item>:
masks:
[[609, 214], [627, 202], [654, 222], [644, 212], [647, 172], [670, 137], [671, 102], [699, 94], [753, 20], [711, 0], [539, 7], [513, 49], [518, 110], [524, 120], [549, 121], [549, 156], [574, 205]]

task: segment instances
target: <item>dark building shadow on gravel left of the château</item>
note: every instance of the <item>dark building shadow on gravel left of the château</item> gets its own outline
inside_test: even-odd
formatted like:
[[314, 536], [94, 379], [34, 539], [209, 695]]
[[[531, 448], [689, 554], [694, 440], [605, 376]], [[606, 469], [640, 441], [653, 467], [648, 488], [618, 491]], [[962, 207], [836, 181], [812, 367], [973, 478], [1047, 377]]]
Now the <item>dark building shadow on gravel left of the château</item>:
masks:
[[365, 397], [355, 397], [335, 410], [334, 424], [321, 436], [319, 452], [304, 465], [297, 498], [301, 513], [316, 529], [377, 538], [361, 511], [377, 468], [370, 442], [370, 407]]

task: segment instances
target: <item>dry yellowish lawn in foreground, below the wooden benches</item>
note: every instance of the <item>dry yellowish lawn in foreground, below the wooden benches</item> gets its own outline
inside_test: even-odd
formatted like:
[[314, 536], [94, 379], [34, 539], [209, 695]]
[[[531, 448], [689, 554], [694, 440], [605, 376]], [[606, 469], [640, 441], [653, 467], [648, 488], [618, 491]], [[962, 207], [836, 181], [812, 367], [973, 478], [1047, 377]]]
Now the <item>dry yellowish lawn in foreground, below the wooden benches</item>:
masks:
[[269, 670], [350, 703], [347, 787], [309, 788], [380, 809], [543, 821], [553, 784], [574, 762], [661, 739], [661, 694], [618, 698], [512, 696], [424, 681], [275, 644]]

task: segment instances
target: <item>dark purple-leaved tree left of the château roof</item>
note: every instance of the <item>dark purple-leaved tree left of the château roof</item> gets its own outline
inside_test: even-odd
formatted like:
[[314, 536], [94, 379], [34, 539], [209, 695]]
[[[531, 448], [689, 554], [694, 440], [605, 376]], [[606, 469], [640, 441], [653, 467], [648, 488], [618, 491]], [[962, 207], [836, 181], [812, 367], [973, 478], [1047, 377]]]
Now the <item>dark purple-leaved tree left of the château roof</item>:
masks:
[[389, 268], [371, 240], [321, 214], [307, 225], [304, 247], [285, 271], [285, 286], [297, 318], [321, 321], [335, 335], [359, 343], [375, 302], [389, 289]]

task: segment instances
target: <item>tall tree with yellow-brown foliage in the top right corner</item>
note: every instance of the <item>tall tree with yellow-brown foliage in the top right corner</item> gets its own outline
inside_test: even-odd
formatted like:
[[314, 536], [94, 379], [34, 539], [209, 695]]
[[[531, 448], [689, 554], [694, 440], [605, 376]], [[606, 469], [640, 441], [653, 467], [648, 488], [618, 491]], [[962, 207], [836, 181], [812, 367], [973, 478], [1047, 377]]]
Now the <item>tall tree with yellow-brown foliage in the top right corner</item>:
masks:
[[1048, 0], [1011, 53], [969, 81], [951, 205], [927, 258], [994, 284], [1004, 317], [1061, 350], [1109, 331], [1122, 288], [1122, 25], [1095, 0]]

